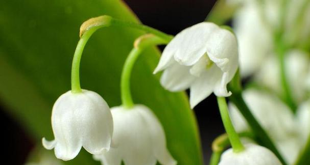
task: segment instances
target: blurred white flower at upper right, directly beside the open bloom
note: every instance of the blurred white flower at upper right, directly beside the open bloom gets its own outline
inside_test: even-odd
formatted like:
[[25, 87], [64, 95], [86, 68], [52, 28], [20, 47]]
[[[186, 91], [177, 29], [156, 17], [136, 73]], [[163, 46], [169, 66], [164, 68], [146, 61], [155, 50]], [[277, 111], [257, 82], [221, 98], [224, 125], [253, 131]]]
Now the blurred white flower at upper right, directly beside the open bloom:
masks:
[[233, 29], [239, 44], [242, 76], [254, 73], [268, 57], [273, 47], [268, 20], [263, 20], [262, 16], [257, 2], [244, 4], [234, 16]]

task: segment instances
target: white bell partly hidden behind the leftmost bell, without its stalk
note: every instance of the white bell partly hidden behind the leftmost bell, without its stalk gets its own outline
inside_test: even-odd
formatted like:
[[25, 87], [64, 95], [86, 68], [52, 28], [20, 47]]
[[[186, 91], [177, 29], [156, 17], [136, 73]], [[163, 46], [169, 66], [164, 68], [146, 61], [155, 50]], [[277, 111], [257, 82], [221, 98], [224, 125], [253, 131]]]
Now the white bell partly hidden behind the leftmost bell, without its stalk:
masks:
[[154, 165], [157, 160], [164, 165], [176, 164], [166, 148], [163, 128], [144, 105], [126, 109], [122, 106], [111, 108], [114, 132], [113, 145], [109, 152], [94, 155], [102, 164]]

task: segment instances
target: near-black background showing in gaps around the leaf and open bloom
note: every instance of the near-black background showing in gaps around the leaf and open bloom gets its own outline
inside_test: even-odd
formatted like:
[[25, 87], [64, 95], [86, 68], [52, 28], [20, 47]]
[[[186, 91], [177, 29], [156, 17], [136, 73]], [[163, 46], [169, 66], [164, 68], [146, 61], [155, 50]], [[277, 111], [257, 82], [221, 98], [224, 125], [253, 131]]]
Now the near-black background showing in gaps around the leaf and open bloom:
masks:
[[[176, 35], [181, 30], [204, 21], [216, 2], [205, 0], [126, 0], [142, 23], [165, 33]], [[23, 164], [34, 144], [29, 135], [13, 118], [5, 114], [7, 108], [0, 100], [0, 121], [2, 121], [2, 162]], [[52, 107], [51, 107], [52, 108]], [[205, 164], [211, 154], [211, 143], [215, 137], [224, 132], [216, 97], [211, 95], [195, 108], [201, 134]]]

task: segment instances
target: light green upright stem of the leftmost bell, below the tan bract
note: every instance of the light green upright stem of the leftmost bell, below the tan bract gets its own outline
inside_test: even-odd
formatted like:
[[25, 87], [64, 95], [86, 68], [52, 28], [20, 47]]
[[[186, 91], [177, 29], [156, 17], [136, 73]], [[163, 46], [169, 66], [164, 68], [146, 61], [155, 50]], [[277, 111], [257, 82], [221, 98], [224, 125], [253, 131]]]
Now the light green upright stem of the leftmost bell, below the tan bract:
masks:
[[90, 36], [94, 33], [94, 30], [87, 31], [79, 40], [77, 48], [74, 52], [74, 57], [72, 60], [72, 68], [71, 68], [71, 92], [79, 93], [82, 92], [80, 85], [80, 62], [84, 47], [90, 38]]

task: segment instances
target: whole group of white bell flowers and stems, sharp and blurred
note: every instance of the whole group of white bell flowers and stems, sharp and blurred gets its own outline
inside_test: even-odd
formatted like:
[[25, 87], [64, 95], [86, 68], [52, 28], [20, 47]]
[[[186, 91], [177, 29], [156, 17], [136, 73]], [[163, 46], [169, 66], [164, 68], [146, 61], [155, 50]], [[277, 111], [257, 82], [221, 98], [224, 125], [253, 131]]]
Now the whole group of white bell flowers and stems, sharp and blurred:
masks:
[[[148, 46], [168, 44], [153, 72], [163, 71], [161, 86], [171, 92], [189, 89], [192, 108], [212, 93], [217, 96], [226, 134], [213, 142], [213, 151], [222, 153], [227, 144], [231, 148], [214, 156], [217, 159], [211, 164], [296, 162], [309, 143], [310, 133], [310, 59], [308, 50], [301, 48], [310, 47], [305, 37], [310, 36], [310, 21], [299, 12], [309, 13], [310, 3], [277, 0], [228, 4], [242, 4], [233, 17], [236, 35], [229, 27], [212, 22], [190, 26], [174, 38], [110, 16], [83, 23], [72, 67], [72, 90], [55, 102], [55, 140], [43, 138], [43, 146], [54, 148], [62, 160], [75, 158], [83, 147], [102, 164], [177, 164], [166, 147], [161, 121], [146, 105], [134, 104], [130, 93], [129, 77], [139, 53]], [[284, 9], [292, 13], [287, 18], [281, 15]], [[99, 94], [80, 88], [79, 63], [92, 33], [113, 22], [151, 34], [135, 41], [122, 72], [122, 105], [110, 109]], [[249, 84], [245, 90], [242, 77], [247, 77], [245, 84]], [[225, 97], [229, 97], [229, 106]], [[225, 135], [229, 143], [223, 140]], [[252, 137], [251, 142], [245, 143], [240, 136]]]

